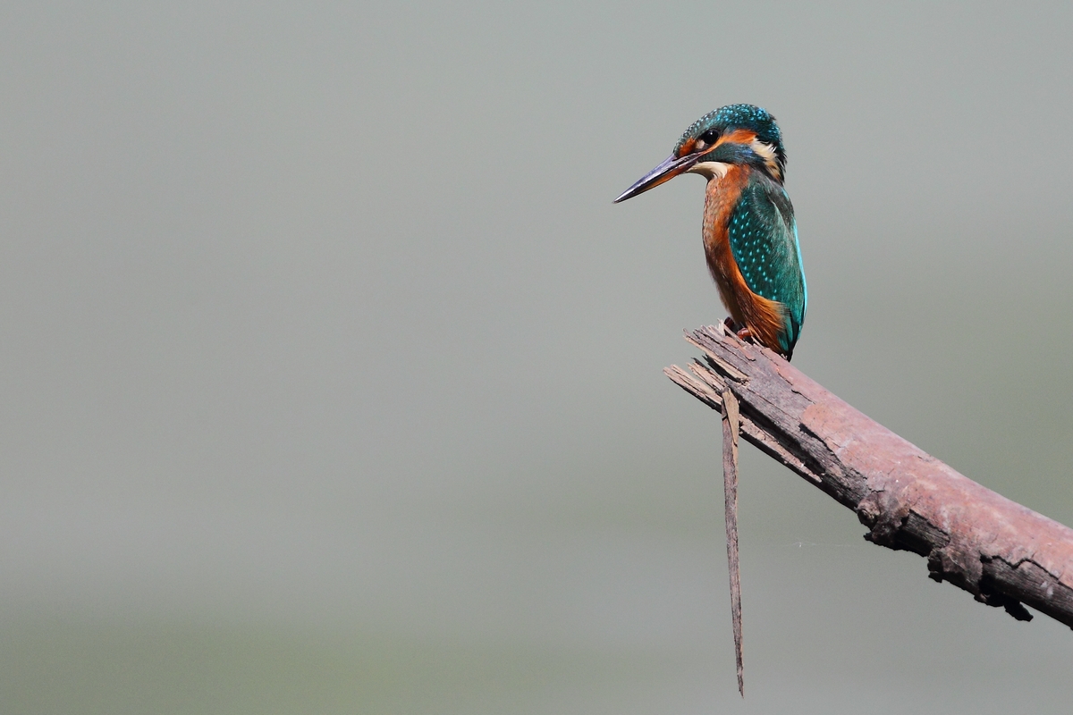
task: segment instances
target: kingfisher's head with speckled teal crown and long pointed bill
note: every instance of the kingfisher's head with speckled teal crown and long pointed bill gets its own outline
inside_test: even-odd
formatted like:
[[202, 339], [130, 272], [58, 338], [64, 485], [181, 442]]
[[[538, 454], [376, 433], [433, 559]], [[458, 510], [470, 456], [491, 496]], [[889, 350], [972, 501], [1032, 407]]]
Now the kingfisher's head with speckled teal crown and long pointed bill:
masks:
[[734, 165], [751, 166], [782, 183], [787, 150], [779, 125], [766, 109], [729, 104], [704, 115], [690, 124], [666, 160], [622, 192], [615, 203], [643, 194], [679, 174], [711, 179]]

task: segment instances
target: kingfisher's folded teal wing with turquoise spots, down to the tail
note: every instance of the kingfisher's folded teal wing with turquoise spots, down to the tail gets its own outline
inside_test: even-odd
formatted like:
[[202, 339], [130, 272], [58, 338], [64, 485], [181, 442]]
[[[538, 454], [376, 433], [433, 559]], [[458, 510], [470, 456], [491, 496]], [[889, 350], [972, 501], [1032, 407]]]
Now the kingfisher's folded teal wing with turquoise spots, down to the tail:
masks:
[[792, 354], [808, 306], [794, 207], [781, 185], [754, 173], [731, 213], [727, 235], [749, 289], [785, 308], [779, 342]]

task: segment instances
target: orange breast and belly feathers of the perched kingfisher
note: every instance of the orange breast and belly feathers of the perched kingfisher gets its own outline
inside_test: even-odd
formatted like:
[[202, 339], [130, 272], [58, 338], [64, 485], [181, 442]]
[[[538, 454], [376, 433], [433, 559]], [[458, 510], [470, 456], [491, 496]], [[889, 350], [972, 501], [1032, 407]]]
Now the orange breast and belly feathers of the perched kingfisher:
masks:
[[785, 329], [782, 303], [749, 289], [726, 235], [734, 207], [748, 181], [749, 169], [740, 166], [731, 166], [725, 176], [708, 181], [704, 202], [704, 255], [731, 317], [749, 328], [760, 344], [781, 353], [779, 333]]

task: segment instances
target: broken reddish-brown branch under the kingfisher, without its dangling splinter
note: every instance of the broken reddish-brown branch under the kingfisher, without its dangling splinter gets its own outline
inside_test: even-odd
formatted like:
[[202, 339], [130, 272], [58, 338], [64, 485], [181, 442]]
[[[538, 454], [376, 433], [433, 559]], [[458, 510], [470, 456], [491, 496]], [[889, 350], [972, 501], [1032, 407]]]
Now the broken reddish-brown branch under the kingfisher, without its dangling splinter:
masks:
[[958, 474], [839, 400], [770, 351], [723, 326], [687, 333], [704, 362], [664, 372], [740, 433], [853, 509], [865, 538], [927, 557], [930, 578], [1020, 621], [1025, 605], [1073, 627], [1073, 530]]

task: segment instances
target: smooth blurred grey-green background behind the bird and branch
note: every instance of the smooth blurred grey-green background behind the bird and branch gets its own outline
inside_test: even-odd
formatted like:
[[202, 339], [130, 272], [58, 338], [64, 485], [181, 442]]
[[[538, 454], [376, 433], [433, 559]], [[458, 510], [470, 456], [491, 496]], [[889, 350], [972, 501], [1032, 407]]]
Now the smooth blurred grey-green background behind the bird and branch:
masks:
[[1069, 3], [0, 11], [0, 712], [1058, 713], [1073, 634], [755, 450], [734, 683], [696, 117], [796, 364], [1073, 523]]

